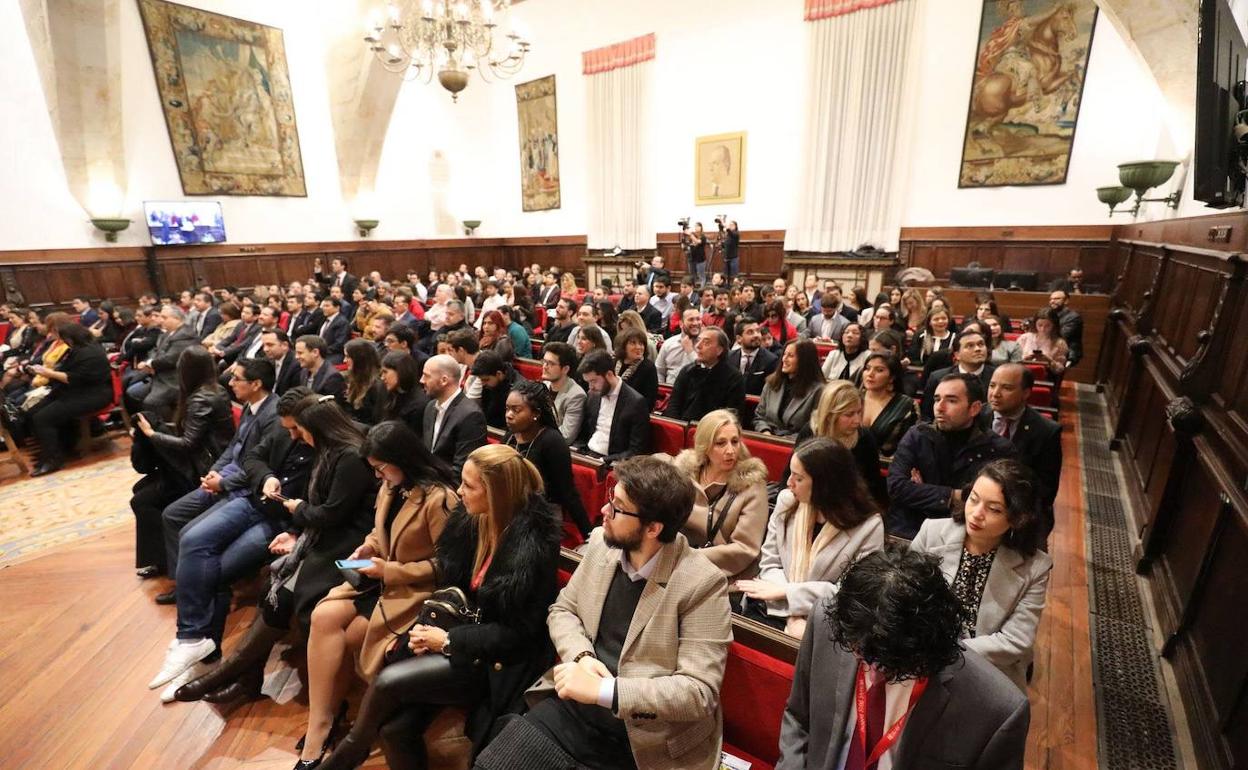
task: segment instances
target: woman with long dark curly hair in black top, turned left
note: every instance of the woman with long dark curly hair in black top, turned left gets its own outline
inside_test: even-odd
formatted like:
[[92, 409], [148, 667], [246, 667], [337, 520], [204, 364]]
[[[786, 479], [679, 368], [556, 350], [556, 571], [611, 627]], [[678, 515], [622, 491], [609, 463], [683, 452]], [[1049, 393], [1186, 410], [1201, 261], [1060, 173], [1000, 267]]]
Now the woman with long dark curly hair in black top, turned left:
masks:
[[559, 433], [550, 388], [532, 379], [517, 382], [507, 394], [504, 418], [507, 434], [503, 443], [514, 447], [520, 457], [537, 467], [545, 485], [545, 498], [558, 505], [564, 518], [575, 524], [580, 537], [588, 540], [593, 525], [572, 482], [572, 453]]

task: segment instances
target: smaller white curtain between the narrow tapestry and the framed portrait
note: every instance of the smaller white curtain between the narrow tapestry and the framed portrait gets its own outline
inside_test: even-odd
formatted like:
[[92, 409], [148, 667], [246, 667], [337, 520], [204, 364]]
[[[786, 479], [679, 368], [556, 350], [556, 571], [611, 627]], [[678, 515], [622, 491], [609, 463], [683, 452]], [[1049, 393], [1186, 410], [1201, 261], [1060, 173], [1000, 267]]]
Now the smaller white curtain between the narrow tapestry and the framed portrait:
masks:
[[650, 221], [653, 60], [585, 76], [589, 248], [654, 248]]

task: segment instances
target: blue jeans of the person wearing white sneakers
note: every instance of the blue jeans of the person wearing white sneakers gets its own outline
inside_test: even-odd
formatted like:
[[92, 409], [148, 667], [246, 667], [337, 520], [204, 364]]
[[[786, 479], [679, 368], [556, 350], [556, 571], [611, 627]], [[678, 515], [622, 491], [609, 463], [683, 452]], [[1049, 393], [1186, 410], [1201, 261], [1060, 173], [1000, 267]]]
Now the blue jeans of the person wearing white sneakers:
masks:
[[268, 560], [278, 523], [250, 498], [222, 500], [182, 529], [177, 562], [177, 638], [220, 645], [230, 584]]

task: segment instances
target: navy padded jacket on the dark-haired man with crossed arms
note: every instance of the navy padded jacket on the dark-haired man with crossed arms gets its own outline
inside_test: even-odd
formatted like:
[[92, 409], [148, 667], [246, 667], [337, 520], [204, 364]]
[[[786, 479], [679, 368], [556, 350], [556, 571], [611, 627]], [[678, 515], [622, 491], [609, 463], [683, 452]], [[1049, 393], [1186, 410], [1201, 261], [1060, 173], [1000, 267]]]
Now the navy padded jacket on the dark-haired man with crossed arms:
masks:
[[[975, 480], [985, 464], [1003, 457], [1016, 457], [1015, 446], [996, 433], [972, 426], [971, 438], [953, 454], [945, 433], [931, 423], [911, 428], [897, 444], [889, 464], [889, 534], [914, 539], [924, 519], [948, 517], [950, 495]], [[919, 470], [922, 483], [915, 483], [911, 470]]]

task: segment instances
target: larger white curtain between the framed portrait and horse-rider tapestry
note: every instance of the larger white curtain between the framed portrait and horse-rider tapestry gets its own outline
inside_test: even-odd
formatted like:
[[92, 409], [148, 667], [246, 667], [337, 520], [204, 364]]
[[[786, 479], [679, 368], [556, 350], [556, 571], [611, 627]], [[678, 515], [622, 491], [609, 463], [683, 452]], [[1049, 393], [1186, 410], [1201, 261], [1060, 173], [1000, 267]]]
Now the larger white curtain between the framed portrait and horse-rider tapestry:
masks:
[[786, 251], [897, 248], [917, 0], [807, 22], [804, 176]]

